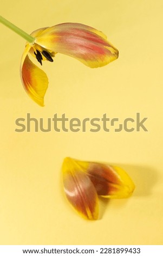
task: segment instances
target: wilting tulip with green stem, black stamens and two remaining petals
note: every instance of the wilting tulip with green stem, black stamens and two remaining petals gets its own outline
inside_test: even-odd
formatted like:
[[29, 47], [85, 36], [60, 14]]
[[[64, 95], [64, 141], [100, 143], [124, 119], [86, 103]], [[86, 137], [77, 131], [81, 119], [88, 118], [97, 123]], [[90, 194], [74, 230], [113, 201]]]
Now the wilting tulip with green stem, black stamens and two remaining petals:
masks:
[[80, 60], [90, 68], [107, 65], [118, 58], [118, 50], [107, 41], [105, 34], [80, 23], [40, 28], [28, 35], [2, 16], [0, 22], [27, 40], [21, 60], [21, 80], [28, 95], [40, 106], [44, 106], [48, 77], [29, 55], [42, 65], [44, 60], [53, 62], [55, 54], [62, 53]]

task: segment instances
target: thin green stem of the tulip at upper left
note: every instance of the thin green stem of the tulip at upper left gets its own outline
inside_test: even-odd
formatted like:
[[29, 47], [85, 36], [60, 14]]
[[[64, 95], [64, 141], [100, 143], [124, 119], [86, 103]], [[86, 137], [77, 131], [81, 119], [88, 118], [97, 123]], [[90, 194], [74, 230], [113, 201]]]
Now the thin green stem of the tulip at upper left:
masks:
[[27, 40], [30, 43], [34, 43], [35, 38], [33, 38], [31, 35], [24, 32], [21, 28], [16, 27], [14, 24], [12, 24], [10, 21], [4, 19], [0, 15], [0, 22], [5, 25], [6, 27], [10, 28], [12, 31], [16, 32], [18, 35], [22, 36], [25, 40]]

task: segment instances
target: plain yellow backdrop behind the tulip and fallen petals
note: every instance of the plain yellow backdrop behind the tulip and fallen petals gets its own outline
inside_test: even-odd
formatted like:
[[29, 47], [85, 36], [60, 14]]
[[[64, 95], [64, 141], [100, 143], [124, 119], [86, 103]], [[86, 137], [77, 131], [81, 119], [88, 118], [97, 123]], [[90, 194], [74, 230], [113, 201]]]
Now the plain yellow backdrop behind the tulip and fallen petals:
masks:
[[[62, 22], [101, 30], [119, 59], [89, 69], [57, 54], [43, 63], [49, 77], [45, 107], [25, 93], [19, 63], [25, 40], [3, 25], [0, 40], [1, 245], [160, 245], [162, 186], [162, 0], [1, 0], [1, 15], [27, 33]], [[121, 120], [148, 117], [148, 132], [15, 132], [15, 120], [73, 117]], [[66, 156], [114, 163], [136, 189], [131, 198], [105, 201], [99, 221], [71, 209], [61, 187]]]

